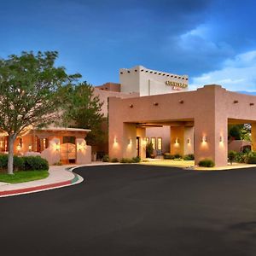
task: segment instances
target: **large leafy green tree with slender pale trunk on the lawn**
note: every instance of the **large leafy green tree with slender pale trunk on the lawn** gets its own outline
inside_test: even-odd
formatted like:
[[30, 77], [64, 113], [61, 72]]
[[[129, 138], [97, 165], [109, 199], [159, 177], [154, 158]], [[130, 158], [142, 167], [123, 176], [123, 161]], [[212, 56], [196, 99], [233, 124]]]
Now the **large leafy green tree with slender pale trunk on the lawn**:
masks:
[[55, 51], [22, 52], [0, 59], [0, 129], [9, 136], [9, 174], [13, 174], [16, 137], [53, 122], [60, 105], [59, 89], [80, 77], [55, 67], [57, 56]]

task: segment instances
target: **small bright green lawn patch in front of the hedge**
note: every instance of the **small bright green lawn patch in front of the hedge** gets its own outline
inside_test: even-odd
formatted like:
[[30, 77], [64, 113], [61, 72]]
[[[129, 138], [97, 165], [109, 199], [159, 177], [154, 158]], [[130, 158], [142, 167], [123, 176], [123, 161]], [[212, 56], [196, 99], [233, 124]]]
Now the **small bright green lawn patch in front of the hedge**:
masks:
[[0, 182], [3, 183], [26, 183], [32, 180], [43, 179], [49, 176], [48, 171], [15, 172], [14, 175], [0, 173]]

